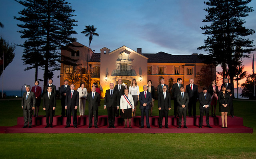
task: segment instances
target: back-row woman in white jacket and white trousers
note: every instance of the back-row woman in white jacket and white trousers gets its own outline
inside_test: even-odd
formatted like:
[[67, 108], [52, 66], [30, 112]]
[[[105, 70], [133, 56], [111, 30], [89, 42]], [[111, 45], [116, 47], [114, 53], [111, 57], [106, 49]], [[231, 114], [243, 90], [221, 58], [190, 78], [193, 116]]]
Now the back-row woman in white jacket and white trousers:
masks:
[[84, 116], [85, 102], [87, 97], [87, 89], [84, 87], [84, 83], [80, 83], [80, 87], [77, 89], [79, 92], [79, 117]]

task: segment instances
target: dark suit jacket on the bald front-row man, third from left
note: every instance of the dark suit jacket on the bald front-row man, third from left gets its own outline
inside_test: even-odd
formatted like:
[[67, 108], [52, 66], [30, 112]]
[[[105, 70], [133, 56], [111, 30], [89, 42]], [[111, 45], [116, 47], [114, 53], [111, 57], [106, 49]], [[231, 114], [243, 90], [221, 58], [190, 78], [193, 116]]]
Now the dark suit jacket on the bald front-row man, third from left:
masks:
[[66, 99], [65, 99], [65, 106], [67, 106], [68, 109], [75, 109], [75, 106], [78, 106], [78, 102], [79, 102], [78, 91], [74, 90], [72, 98], [71, 98], [71, 90], [67, 92]]

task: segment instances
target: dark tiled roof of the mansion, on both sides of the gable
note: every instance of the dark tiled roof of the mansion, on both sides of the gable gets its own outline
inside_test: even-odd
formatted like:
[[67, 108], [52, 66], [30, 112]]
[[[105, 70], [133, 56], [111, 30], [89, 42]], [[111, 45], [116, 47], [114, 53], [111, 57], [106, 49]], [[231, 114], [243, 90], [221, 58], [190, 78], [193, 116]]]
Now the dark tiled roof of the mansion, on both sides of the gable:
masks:
[[[171, 55], [165, 52], [142, 54], [148, 58], [148, 63], [203, 63], [199, 55]], [[90, 62], [100, 62], [100, 53], [93, 53]]]

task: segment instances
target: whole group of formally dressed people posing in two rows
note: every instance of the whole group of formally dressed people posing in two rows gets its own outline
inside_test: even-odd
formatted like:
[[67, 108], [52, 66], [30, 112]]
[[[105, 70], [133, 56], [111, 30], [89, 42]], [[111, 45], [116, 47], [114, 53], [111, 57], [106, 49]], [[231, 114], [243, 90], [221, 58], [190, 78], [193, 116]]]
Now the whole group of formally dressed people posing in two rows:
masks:
[[[52, 79], [49, 80], [49, 84], [42, 93], [43, 95], [43, 109], [46, 111], [46, 127], [52, 127], [52, 119], [55, 114], [56, 108], [56, 86], [52, 84]], [[26, 86], [26, 92], [22, 97], [22, 108], [24, 115], [24, 128], [31, 127], [32, 125], [32, 113], [34, 110], [34, 116], [38, 116], [39, 106], [41, 102], [42, 89], [39, 85], [39, 81], [35, 82], [35, 86], [30, 88], [30, 85]], [[88, 117], [89, 126], [92, 127], [92, 118], [94, 116], [94, 127], [98, 128], [98, 107], [100, 106], [100, 88], [97, 83], [93, 83], [92, 91], [87, 92], [84, 87], [84, 83], [80, 84], [80, 87], [74, 90], [75, 85], [68, 85], [68, 79], [64, 80], [64, 85], [60, 87], [60, 100], [62, 105], [62, 117], [67, 117], [66, 127], [70, 127], [71, 115], [73, 116], [73, 125], [77, 127], [77, 109], [79, 106], [79, 117], [84, 116], [86, 99], [88, 100]], [[31, 89], [31, 91], [30, 91]], [[184, 92], [185, 90], [185, 92]], [[224, 84], [221, 86], [221, 91], [218, 91], [216, 81], [213, 80], [212, 84], [207, 88], [203, 88], [203, 92], [198, 93], [198, 86], [194, 84], [194, 79], [190, 79], [190, 84], [186, 85], [186, 89], [182, 84], [182, 79], [178, 78], [177, 83], [172, 85], [170, 90], [174, 97], [174, 117], [178, 115], [178, 128], [182, 125], [186, 126], [186, 113], [188, 109], [189, 117], [196, 117], [196, 102], [200, 103], [200, 122], [199, 127], [202, 127], [202, 121], [204, 113], [206, 114], [206, 127], [210, 127], [209, 124], [209, 111], [212, 112], [212, 117], [216, 117], [216, 105], [219, 101], [219, 111], [221, 112], [222, 127], [227, 127], [227, 114], [230, 109], [231, 116], [234, 117], [234, 111], [232, 107], [232, 98], [234, 97], [234, 86], [228, 83], [228, 79], [224, 79]], [[171, 109], [171, 94], [168, 92], [168, 85], [164, 84], [164, 78], [160, 80], [160, 84], [157, 87], [158, 93], [158, 109], [159, 109], [159, 128], [162, 128], [162, 120], [165, 116], [164, 127], [168, 127], [168, 112]], [[110, 83], [110, 89], [106, 90], [104, 97], [104, 109], [108, 111], [108, 127], [115, 128], [115, 117], [120, 116], [124, 119], [125, 127], [127, 128], [127, 119], [129, 127], [131, 127], [131, 118], [136, 116], [136, 108], [138, 101], [140, 101], [139, 109], [141, 111], [140, 128], [144, 127], [144, 116], [146, 116], [146, 127], [150, 127], [149, 116], [152, 117], [152, 108], [154, 107], [155, 100], [155, 88], [152, 86], [152, 81], [148, 80], [148, 85], [143, 86], [143, 91], [139, 91], [136, 79], [133, 79], [129, 88], [122, 85], [122, 79], [118, 79], [118, 84]], [[211, 105], [211, 106], [210, 106]], [[120, 111], [119, 111], [120, 107]], [[149, 115], [150, 111], [150, 115]], [[49, 120], [50, 119], [50, 120]], [[225, 121], [225, 125], [224, 125]]]

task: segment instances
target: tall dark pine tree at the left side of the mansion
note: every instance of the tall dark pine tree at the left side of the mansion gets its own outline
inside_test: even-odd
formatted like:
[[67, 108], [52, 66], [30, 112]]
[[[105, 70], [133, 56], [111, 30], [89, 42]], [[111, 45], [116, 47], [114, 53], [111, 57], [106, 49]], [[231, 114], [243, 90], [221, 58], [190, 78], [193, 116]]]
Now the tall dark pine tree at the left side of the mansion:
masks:
[[[71, 19], [74, 10], [70, 3], [64, 0], [15, 0], [25, 6], [19, 12], [22, 16], [14, 17], [23, 22], [18, 24], [18, 32], [26, 38], [23, 46], [25, 64], [31, 67], [42, 67], [44, 69], [44, 87], [47, 85], [49, 72], [59, 70], [60, 49], [70, 42], [76, 41], [72, 34], [76, 26], [74, 19]], [[35, 56], [30, 56], [35, 54]], [[34, 64], [33, 64], [34, 62]], [[27, 68], [29, 69], [29, 68]]]

